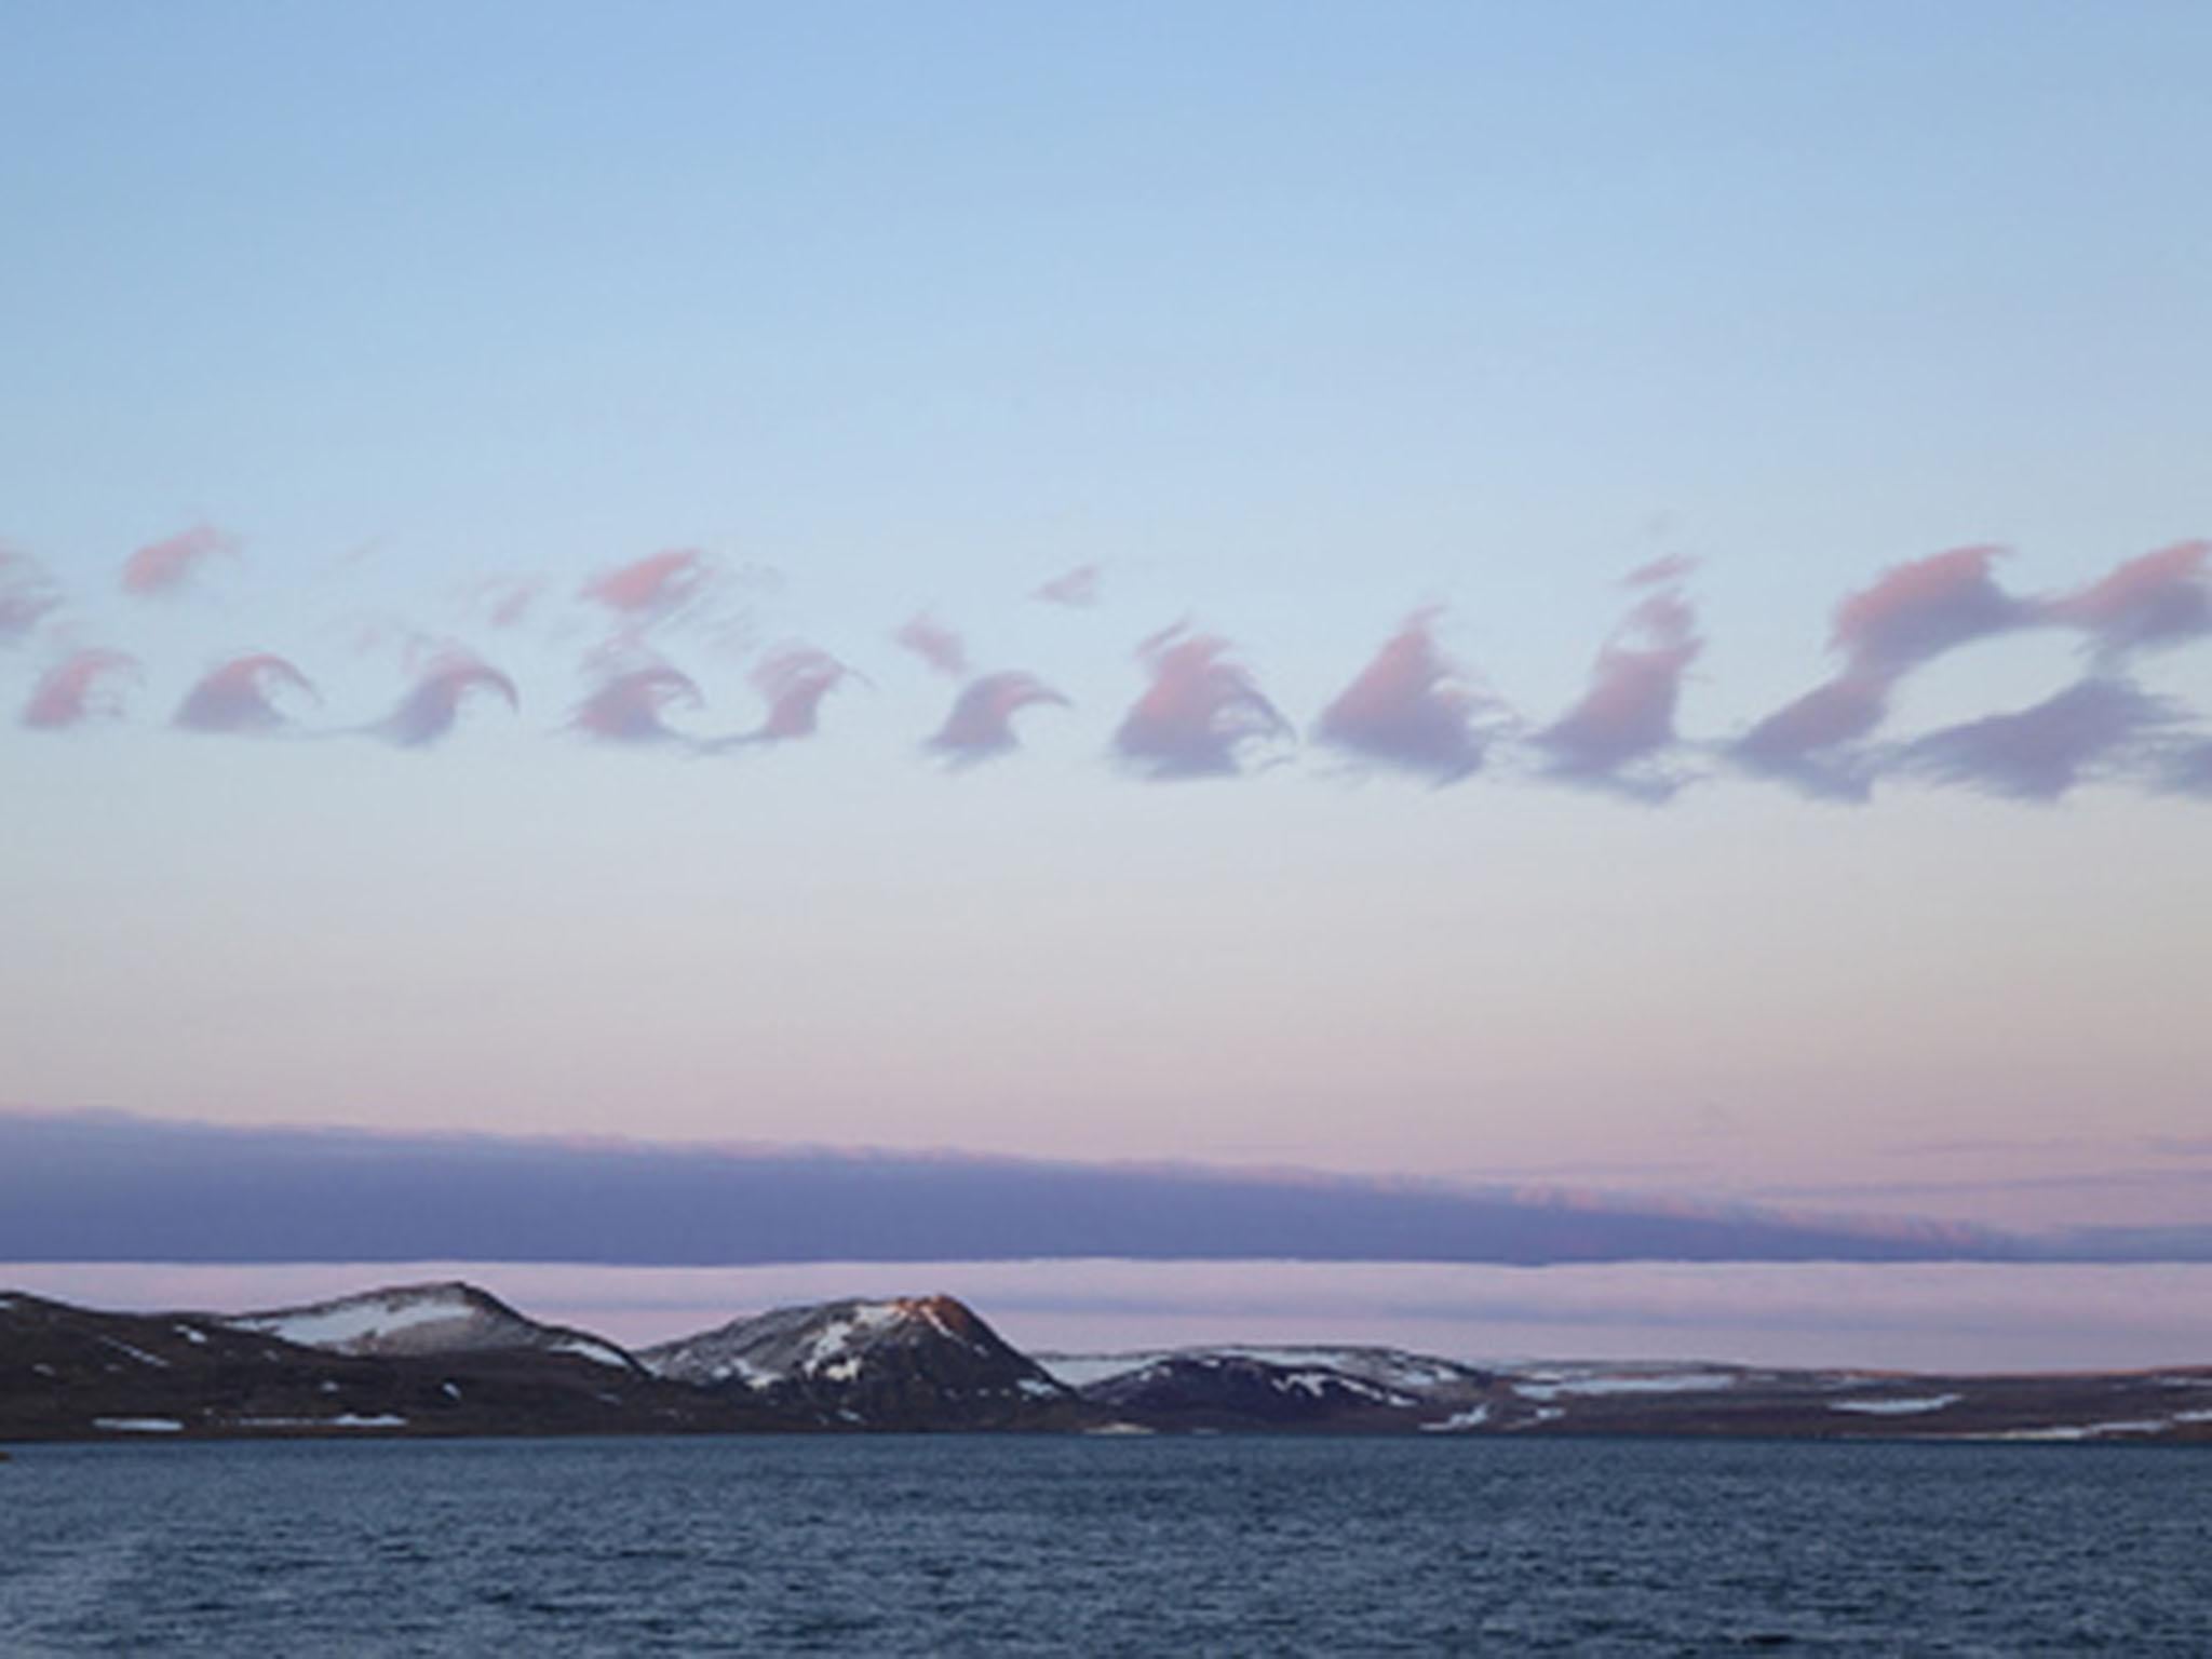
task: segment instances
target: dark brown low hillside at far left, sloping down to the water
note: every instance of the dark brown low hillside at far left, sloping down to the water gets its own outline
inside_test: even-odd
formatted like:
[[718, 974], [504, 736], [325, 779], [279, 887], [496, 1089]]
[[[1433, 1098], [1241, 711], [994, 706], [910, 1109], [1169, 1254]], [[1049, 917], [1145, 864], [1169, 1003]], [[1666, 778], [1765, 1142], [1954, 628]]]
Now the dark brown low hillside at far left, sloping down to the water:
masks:
[[349, 1354], [208, 1314], [106, 1314], [0, 1294], [0, 1442], [776, 1427], [794, 1425], [560, 1347]]

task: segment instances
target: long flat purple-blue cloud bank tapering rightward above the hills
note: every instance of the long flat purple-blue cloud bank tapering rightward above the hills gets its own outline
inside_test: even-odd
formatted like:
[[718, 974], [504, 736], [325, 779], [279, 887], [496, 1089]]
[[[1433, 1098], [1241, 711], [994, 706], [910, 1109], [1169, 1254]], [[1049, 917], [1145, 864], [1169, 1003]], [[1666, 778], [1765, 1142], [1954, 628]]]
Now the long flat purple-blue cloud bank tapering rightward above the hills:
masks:
[[0, 1115], [0, 1261], [1980, 1261], [2000, 1234], [1345, 1177]]

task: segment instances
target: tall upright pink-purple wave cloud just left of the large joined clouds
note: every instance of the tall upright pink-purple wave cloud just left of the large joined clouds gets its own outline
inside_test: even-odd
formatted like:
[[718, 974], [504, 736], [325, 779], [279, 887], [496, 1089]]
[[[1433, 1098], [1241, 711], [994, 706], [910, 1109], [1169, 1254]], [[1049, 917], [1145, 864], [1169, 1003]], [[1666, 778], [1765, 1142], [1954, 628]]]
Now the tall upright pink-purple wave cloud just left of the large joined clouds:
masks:
[[1674, 745], [1681, 681], [1701, 650], [1697, 613], [1677, 591], [1661, 588], [1637, 602], [1597, 653], [1582, 701], [1535, 734], [1553, 774], [1646, 801], [1672, 796], [1679, 779], [1626, 768]]

